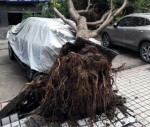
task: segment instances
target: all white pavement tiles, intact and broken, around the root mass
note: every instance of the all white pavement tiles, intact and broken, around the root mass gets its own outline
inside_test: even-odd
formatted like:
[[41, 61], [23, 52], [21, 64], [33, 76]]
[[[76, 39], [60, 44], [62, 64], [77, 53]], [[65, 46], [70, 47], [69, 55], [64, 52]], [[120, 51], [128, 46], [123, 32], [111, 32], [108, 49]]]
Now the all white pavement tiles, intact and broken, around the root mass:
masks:
[[[116, 111], [118, 114], [114, 118], [114, 121], [116, 122], [109, 120], [105, 114], [103, 114], [102, 116], [98, 117], [97, 122], [92, 122], [92, 126], [106, 127], [106, 125], [109, 123], [109, 127], [123, 127], [128, 123], [135, 122], [133, 125], [127, 125], [126, 127], [143, 127], [143, 125], [150, 127], [150, 65], [144, 65], [122, 71], [117, 73], [115, 77], [115, 87], [119, 89], [119, 95], [127, 98], [126, 105], [129, 109], [131, 109], [131, 111], [128, 111], [130, 115], [124, 116], [117, 109]], [[3, 108], [6, 104], [7, 102], [2, 103], [2, 107], [0, 108]], [[132, 115], [134, 115], [132, 111], [135, 113], [137, 120], [143, 125], [136, 122], [135, 118], [132, 117]], [[14, 122], [14, 125], [12, 124], [11, 127], [15, 127], [19, 123], [22, 123], [22, 127], [26, 127], [23, 120], [20, 122]], [[77, 123], [80, 126], [91, 127], [88, 118], [79, 120]], [[10, 125], [7, 124], [3, 127], [10, 127]], [[68, 123], [62, 124], [62, 127], [69, 127]]]

